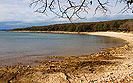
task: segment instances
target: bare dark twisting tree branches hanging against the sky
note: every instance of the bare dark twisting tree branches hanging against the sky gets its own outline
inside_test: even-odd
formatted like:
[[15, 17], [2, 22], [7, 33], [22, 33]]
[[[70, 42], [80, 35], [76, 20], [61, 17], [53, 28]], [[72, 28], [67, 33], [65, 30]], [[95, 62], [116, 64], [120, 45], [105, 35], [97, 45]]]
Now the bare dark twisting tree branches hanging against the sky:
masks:
[[[94, 4], [97, 2], [97, 4]], [[68, 18], [70, 21], [74, 16], [83, 19], [80, 14], [81, 12], [88, 13], [91, 5], [95, 5], [95, 14], [98, 10], [102, 11], [103, 14], [109, 12], [109, 3], [112, 0], [32, 0], [30, 7], [37, 7], [36, 12], [44, 13], [52, 12], [61, 18]], [[116, 0], [117, 3], [124, 3], [125, 6], [120, 12], [133, 12], [133, 0]]]

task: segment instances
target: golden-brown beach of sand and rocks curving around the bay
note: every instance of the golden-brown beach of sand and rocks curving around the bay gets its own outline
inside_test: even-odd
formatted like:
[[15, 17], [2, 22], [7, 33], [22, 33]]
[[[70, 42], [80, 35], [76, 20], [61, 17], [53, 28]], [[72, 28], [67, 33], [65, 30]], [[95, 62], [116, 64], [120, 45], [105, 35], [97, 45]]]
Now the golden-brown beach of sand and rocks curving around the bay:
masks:
[[[16, 31], [15, 31], [16, 32]], [[37, 32], [39, 31], [17, 31], [17, 32]], [[49, 33], [44, 31], [42, 33]], [[128, 45], [116, 48], [109, 48], [107, 52], [100, 52], [90, 57], [90, 55], [83, 57], [63, 57], [64, 62], [43, 62], [43, 65], [37, 67], [30, 66], [15, 66], [0, 68], [0, 82], [5, 83], [132, 83], [133, 82], [133, 34], [122, 32], [50, 32], [60, 34], [85, 34], [85, 35], [99, 35], [109, 36], [123, 39], [128, 42]], [[108, 56], [108, 58], [107, 58]], [[113, 58], [113, 59], [110, 59]], [[115, 58], [114, 58], [115, 57]], [[52, 58], [62, 58], [55, 57]], [[69, 59], [67, 59], [69, 58]], [[74, 59], [73, 59], [74, 58]], [[119, 59], [118, 59], [119, 58]], [[91, 62], [98, 62], [95, 66], [90, 65]], [[68, 62], [78, 66], [77, 69], [71, 72], [56, 71], [58, 68], [64, 66]], [[99, 62], [101, 64], [99, 64]], [[51, 64], [54, 63], [54, 64]], [[62, 64], [63, 65], [62, 65]], [[79, 63], [77, 65], [77, 63]], [[92, 63], [92, 64], [94, 64]], [[107, 64], [109, 63], [109, 64]], [[56, 65], [58, 64], [58, 65]], [[61, 65], [60, 65], [61, 64]], [[70, 63], [68, 63], [70, 64]], [[68, 65], [67, 64], [67, 65]], [[106, 64], [106, 65], [104, 65]], [[48, 65], [48, 66], [47, 66]], [[50, 65], [50, 66], [49, 66]], [[83, 66], [84, 65], [84, 66]], [[88, 65], [88, 66], [87, 66]], [[99, 66], [100, 65], [100, 66]], [[60, 66], [60, 67], [57, 67]], [[81, 68], [79, 68], [79, 66]], [[97, 67], [98, 66], [98, 67]], [[46, 72], [52, 70], [52, 73]], [[71, 67], [64, 67], [67, 69]], [[100, 69], [102, 71], [100, 71]], [[103, 70], [104, 69], [104, 70]], [[56, 72], [53, 72], [56, 71]], [[66, 70], [66, 69], [65, 69]], [[94, 70], [94, 71], [93, 71]], [[74, 74], [73, 74], [74, 73]]]

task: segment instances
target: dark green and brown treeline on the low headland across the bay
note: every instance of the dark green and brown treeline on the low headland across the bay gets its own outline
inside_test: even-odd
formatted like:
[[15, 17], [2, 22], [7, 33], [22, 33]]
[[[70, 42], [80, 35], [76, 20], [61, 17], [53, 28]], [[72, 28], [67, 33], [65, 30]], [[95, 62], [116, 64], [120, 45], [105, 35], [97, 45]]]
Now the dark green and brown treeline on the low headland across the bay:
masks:
[[124, 23], [133, 19], [113, 20], [105, 22], [56, 24], [48, 26], [33, 26], [17, 28], [14, 31], [70, 31], [70, 32], [96, 32], [96, 31], [130, 31], [130, 28], [123, 27]]

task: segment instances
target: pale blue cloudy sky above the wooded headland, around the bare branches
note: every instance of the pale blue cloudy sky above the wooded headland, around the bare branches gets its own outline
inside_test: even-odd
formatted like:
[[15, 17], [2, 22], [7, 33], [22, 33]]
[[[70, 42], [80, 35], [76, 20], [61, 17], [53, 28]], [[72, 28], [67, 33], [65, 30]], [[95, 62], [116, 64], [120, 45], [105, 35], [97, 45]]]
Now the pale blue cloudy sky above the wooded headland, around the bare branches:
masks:
[[[35, 13], [35, 9], [29, 7], [30, 1], [31, 0], [0, 0], [0, 29], [68, 22], [67, 19], [59, 19], [57, 16], [51, 13], [49, 13], [48, 16], [40, 13]], [[111, 5], [113, 4], [114, 3], [111, 2]], [[89, 14], [84, 15], [87, 17], [87, 20], [77, 20], [75, 22], [133, 19], [133, 14], [131, 13], [118, 14], [122, 7], [123, 4], [117, 5], [115, 8], [111, 7], [111, 14], [104, 16], [100, 12], [98, 12], [96, 15], [93, 15], [95, 6], [92, 6]]]

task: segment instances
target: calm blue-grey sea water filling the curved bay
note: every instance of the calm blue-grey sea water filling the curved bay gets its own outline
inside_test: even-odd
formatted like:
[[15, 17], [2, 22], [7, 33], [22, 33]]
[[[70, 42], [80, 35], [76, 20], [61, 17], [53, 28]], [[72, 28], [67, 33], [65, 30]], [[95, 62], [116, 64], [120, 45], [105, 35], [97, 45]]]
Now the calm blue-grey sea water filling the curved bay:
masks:
[[0, 65], [43, 56], [81, 56], [122, 46], [124, 40], [104, 36], [0, 31]]

